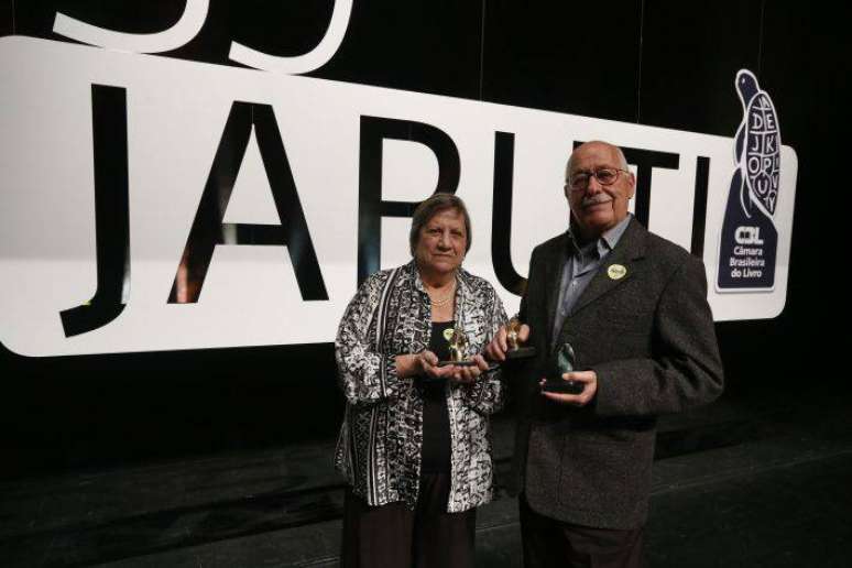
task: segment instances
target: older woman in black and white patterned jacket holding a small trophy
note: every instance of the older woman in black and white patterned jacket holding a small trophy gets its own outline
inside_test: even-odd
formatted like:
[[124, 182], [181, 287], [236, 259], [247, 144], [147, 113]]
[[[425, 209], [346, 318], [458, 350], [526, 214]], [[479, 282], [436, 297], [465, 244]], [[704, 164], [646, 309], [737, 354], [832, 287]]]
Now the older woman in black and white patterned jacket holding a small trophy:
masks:
[[476, 507], [491, 500], [489, 415], [500, 378], [480, 354], [439, 365], [455, 330], [479, 353], [506, 316], [494, 288], [461, 267], [470, 218], [450, 194], [414, 212], [414, 260], [371, 275], [335, 342], [346, 417], [342, 566], [472, 566]]

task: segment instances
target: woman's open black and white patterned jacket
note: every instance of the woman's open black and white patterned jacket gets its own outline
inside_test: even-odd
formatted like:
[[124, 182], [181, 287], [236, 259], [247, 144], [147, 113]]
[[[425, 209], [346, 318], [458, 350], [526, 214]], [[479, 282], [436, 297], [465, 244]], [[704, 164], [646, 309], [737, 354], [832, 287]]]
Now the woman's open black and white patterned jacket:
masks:
[[[456, 320], [481, 352], [506, 323], [503, 304], [483, 278], [459, 269]], [[347, 398], [335, 465], [370, 505], [417, 502], [423, 448], [423, 397], [414, 378], [396, 375], [394, 358], [427, 348], [432, 305], [414, 261], [371, 275], [340, 321], [335, 352]], [[489, 415], [503, 405], [499, 373], [472, 384], [447, 384], [451, 484], [447, 511], [487, 503], [493, 466]]]

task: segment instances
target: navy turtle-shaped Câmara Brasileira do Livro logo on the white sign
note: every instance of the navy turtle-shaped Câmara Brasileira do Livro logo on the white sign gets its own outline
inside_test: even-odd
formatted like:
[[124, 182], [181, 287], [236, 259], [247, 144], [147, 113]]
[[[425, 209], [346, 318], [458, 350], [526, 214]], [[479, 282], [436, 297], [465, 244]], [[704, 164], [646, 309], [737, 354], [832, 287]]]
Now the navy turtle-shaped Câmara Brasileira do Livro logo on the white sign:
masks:
[[734, 170], [719, 240], [719, 292], [772, 291], [778, 231], [773, 217], [780, 182], [780, 130], [769, 95], [754, 74], [736, 74], [743, 121], [736, 131]]

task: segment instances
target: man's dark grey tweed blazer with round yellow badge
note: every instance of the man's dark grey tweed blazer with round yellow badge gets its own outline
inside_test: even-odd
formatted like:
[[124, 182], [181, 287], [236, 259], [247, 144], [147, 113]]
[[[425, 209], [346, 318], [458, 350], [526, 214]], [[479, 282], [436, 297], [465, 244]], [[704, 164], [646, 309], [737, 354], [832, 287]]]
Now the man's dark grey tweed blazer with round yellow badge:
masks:
[[[536, 247], [531, 259], [520, 316], [538, 351], [513, 381], [520, 415], [512, 484], [551, 518], [634, 528], [647, 516], [657, 415], [722, 392], [704, 267], [632, 219], [559, 334], [557, 345], [574, 346], [577, 369], [598, 374], [589, 405], [564, 406], [542, 396], [537, 383], [553, 361], [569, 238]], [[610, 277], [613, 264], [626, 274]]]

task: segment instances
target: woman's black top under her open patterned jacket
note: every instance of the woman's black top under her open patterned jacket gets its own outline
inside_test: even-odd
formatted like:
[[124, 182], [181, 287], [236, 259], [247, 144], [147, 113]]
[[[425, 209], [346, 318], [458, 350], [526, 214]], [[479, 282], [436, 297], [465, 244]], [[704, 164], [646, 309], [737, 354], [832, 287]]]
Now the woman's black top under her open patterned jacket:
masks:
[[[444, 331], [452, 329], [455, 321], [433, 321], [429, 351], [438, 356], [439, 361], [449, 359], [449, 342]], [[449, 472], [450, 434], [449, 413], [447, 412], [447, 380], [420, 376], [418, 381], [423, 394], [423, 455], [422, 473]]]

